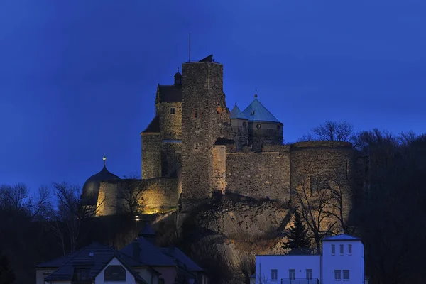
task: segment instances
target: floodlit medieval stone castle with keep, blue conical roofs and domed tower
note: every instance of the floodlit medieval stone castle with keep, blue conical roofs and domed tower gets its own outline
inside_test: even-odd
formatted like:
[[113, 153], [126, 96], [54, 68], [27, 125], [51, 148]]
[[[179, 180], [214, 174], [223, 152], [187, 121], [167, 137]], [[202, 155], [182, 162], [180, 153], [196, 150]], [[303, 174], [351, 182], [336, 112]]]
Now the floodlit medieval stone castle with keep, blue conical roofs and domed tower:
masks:
[[[291, 204], [292, 188], [302, 181], [332, 173], [348, 177], [354, 165], [351, 143], [283, 145], [283, 123], [257, 95], [244, 111], [236, 104], [229, 111], [223, 65], [212, 55], [182, 64], [174, 84], [158, 84], [155, 117], [141, 133], [141, 152], [137, 182], [147, 213], [190, 212], [226, 192]], [[118, 213], [123, 182], [104, 165], [84, 184], [84, 205], [97, 206], [98, 216]]]

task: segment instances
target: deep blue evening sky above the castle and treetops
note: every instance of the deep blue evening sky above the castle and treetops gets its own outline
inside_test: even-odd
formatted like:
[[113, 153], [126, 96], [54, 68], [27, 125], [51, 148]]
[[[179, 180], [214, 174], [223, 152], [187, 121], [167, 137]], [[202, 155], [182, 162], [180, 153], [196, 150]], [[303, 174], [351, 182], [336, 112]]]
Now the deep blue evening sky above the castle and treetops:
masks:
[[326, 120], [425, 131], [426, 1], [0, 1], [0, 183], [139, 173], [158, 83], [224, 64], [231, 108], [258, 99], [286, 142]]

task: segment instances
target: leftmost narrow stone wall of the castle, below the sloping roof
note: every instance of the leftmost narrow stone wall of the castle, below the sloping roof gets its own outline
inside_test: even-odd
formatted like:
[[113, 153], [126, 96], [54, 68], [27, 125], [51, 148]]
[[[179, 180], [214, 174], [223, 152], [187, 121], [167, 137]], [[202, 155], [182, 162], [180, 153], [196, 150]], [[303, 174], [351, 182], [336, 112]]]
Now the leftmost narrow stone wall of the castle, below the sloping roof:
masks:
[[160, 133], [142, 133], [142, 178], [161, 176], [161, 139]]

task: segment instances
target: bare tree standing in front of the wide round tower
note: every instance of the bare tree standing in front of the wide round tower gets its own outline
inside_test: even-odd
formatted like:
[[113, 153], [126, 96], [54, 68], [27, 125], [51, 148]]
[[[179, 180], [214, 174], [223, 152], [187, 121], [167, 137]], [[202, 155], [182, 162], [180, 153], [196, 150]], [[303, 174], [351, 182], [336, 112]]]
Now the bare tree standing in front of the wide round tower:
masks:
[[317, 250], [321, 251], [321, 239], [332, 234], [337, 223], [329, 212], [333, 196], [328, 180], [318, 176], [304, 178], [300, 185], [292, 190], [292, 195], [295, 197], [295, 206], [315, 240]]

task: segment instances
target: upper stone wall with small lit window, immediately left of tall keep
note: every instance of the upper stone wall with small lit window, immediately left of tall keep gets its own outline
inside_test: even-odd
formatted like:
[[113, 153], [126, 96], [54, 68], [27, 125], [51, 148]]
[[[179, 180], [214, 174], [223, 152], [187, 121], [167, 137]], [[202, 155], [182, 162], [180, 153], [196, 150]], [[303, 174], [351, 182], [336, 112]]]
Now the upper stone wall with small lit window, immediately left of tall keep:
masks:
[[[170, 109], [174, 108], [172, 114]], [[182, 103], [161, 102], [158, 108], [160, 116], [161, 140], [182, 140]]]

